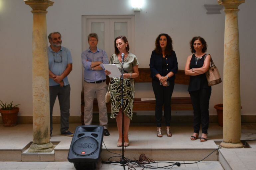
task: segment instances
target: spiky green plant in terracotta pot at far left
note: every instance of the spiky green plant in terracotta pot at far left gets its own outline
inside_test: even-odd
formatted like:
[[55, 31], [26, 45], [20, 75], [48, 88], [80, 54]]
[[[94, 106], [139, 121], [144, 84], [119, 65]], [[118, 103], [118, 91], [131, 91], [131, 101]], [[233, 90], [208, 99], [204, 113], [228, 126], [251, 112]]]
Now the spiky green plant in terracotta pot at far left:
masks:
[[13, 101], [11, 103], [3, 103], [0, 100], [0, 105], [1, 105], [1, 115], [2, 115], [2, 120], [3, 120], [3, 125], [4, 126], [16, 126], [17, 124], [17, 119], [18, 119], [18, 113], [20, 108], [17, 107], [20, 104], [17, 104], [13, 106]]

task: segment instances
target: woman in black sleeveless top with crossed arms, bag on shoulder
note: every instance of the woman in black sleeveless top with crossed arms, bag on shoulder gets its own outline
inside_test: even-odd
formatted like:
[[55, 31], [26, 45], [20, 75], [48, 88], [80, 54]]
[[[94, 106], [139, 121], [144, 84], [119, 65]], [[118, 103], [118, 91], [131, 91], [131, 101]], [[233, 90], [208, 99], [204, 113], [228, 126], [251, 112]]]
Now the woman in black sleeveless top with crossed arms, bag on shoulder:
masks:
[[207, 44], [200, 37], [193, 37], [190, 41], [190, 49], [193, 53], [187, 59], [185, 74], [190, 75], [189, 93], [194, 110], [194, 133], [191, 140], [196, 140], [199, 136], [200, 124], [202, 124], [201, 142], [207, 140], [207, 130], [209, 127], [209, 100], [211, 86], [208, 86], [205, 72], [209, 69], [211, 56], [206, 54]]

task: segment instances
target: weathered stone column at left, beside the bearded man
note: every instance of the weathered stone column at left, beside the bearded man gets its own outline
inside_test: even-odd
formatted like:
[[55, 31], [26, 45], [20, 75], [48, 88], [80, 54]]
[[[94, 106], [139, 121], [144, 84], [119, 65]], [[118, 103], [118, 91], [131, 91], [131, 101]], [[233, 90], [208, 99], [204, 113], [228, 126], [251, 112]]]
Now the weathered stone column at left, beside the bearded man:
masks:
[[51, 152], [49, 67], [47, 55], [46, 9], [50, 0], [25, 1], [33, 10], [32, 80], [33, 80], [33, 144], [29, 152]]

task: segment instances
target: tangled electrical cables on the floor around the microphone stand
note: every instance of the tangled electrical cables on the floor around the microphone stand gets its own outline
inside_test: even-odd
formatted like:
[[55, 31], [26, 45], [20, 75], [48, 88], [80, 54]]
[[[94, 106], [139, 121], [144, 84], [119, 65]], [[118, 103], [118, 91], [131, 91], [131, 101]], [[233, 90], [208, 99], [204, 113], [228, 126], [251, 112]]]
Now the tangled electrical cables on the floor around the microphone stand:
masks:
[[[104, 143], [104, 141], [103, 141]], [[118, 154], [118, 153], [114, 153], [114, 152], [111, 152], [107, 149], [105, 143], [104, 143], [104, 146], [106, 148], [106, 150], [110, 153], [113, 153], [113, 154], [117, 154], [119, 156], [111, 156], [108, 158], [108, 162], [106, 161], [103, 161], [102, 158], [101, 158], [101, 163], [105, 163], [105, 164], [113, 164], [113, 165], [120, 165], [120, 164], [115, 164], [115, 163], [120, 163], [120, 161], [111, 161], [110, 159], [113, 158], [113, 157], [120, 157], [122, 158], [122, 155], [121, 154]], [[128, 166], [128, 170], [136, 170], [137, 167], [141, 167], [141, 168], [148, 168], [148, 169], [159, 169], [159, 168], [163, 168], [163, 169], [170, 169], [172, 168], [173, 166], [177, 165], [177, 166], [181, 166], [182, 164], [194, 164], [194, 163], [198, 163], [198, 162], [201, 162], [203, 161], [204, 159], [206, 159], [208, 156], [210, 156], [213, 152], [215, 152], [216, 150], [220, 149], [220, 147], [218, 147], [217, 149], [214, 149], [210, 154], [208, 154], [206, 157], [204, 157], [203, 159], [199, 160], [199, 161], [196, 161], [196, 162], [192, 162], [192, 163], [180, 163], [180, 162], [167, 162], [167, 161], [154, 161], [153, 159], [149, 159], [145, 154], [141, 154], [139, 159], [136, 160], [134, 158], [134, 160], [131, 160], [131, 159], [128, 159], [126, 157], [124, 157], [126, 160], [127, 160], [127, 166]], [[167, 165], [167, 166], [162, 166], [162, 167], [157, 167], [157, 166], [152, 166], [152, 165], [149, 165], [149, 164], [153, 164], [153, 163], [172, 163], [170, 165]], [[120, 165], [121, 166], [121, 165]], [[124, 170], [125, 170], [125, 166], [124, 167]], [[143, 170], [141, 169], [141, 170]]]

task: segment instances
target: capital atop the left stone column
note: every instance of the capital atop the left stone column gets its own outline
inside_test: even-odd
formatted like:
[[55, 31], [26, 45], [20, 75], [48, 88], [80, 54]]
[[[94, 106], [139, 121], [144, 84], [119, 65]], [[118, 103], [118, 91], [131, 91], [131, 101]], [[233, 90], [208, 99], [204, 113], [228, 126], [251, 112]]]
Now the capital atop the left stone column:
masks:
[[29, 5], [33, 11], [46, 11], [49, 6], [53, 6], [53, 1], [50, 0], [26, 0], [25, 4]]

